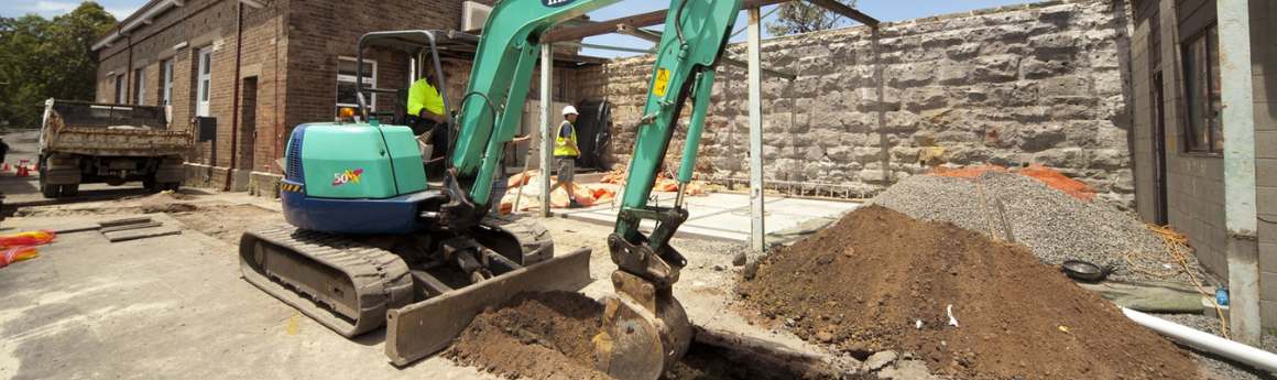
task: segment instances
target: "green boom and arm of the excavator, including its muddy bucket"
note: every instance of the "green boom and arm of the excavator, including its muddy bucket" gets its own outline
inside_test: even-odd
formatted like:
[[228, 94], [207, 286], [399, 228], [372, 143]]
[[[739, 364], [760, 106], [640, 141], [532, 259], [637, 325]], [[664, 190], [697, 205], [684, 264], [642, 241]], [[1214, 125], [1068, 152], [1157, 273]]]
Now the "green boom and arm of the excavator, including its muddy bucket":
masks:
[[[455, 194], [442, 223], [466, 228], [483, 219], [498, 161], [522, 113], [540, 37], [554, 24], [621, 0], [506, 0], [488, 17], [462, 100], [458, 133], [444, 178]], [[687, 315], [672, 285], [686, 265], [669, 239], [687, 219], [682, 188], [691, 180], [718, 61], [741, 10], [741, 0], [672, 0], [665, 32], [638, 122], [637, 142], [616, 230], [608, 247], [617, 270], [605, 297], [604, 329], [595, 336], [599, 370], [618, 379], [656, 379], [691, 344]], [[550, 63], [541, 63], [550, 64]], [[679, 165], [674, 207], [647, 205], [684, 105], [691, 119]], [[467, 186], [469, 184], [469, 189]], [[462, 196], [464, 194], [464, 196]], [[655, 220], [650, 235], [638, 232]]]

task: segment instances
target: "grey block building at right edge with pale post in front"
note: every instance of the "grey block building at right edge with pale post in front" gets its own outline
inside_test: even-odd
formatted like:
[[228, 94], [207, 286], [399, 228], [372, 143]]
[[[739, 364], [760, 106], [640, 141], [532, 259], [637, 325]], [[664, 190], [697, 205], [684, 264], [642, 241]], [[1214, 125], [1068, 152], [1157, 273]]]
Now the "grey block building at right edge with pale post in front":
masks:
[[1277, 3], [1131, 8], [1137, 210], [1189, 237], [1234, 296], [1232, 336], [1258, 342], [1277, 326]]

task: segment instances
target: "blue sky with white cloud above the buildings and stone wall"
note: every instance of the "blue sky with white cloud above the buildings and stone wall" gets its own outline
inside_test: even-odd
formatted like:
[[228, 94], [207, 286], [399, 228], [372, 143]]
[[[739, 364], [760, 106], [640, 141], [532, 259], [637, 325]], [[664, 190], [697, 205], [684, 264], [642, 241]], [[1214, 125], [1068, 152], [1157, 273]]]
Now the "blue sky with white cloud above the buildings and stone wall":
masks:
[[[1034, 0], [857, 0], [856, 9], [868, 14], [881, 22], [895, 22], [923, 18], [928, 15], [949, 14], [958, 12], [968, 12], [974, 9], [992, 8], [1000, 5], [1011, 4], [1024, 4], [1034, 3]], [[50, 1], [50, 0], [36, 0], [36, 1], [23, 1], [23, 0], [0, 0], [0, 17], [19, 17], [27, 13], [36, 13], [46, 19], [52, 19], [55, 15], [69, 13], [75, 9], [80, 3], [75, 1]], [[98, 0], [106, 12], [115, 15], [115, 19], [124, 20], [133, 12], [138, 10], [142, 5], [147, 4], [147, 0]], [[613, 4], [610, 6], [595, 10], [590, 13], [590, 19], [593, 20], [608, 20], [614, 18], [621, 18], [632, 14], [647, 13], [653, 10], [665, 9], [669, 3], [660, 0], [630, 0]], [[771, 10], [773, 6], [765, 6], [762, 14]], [[773, 17], [774, 18], [774, 17]], [[764, 26], [770, 18], [764, 19]], [[854, 24], [854, 22], [848, 23], [848, 26]], [[737, 19], [737, 29], [744, 28], [744, 12], [741, 12], [741, 18]], [[653, 29], [660, 29], [659, 26], [650, 27]], [[764, 38], [766, 36], [766, 28], [764, 27]], [[739, 42], [744, 41], [746, 33], [737, 35], [732, 41]], [[604, 35], [585, 38], [585, 44], [605, 45], [605, 46], [621, 46], [628, 49], [651, 49], [655, 44], [638, 40], [623, 35]], [[599, 50], [599, 49], [585, 49], [582, 50], [585, 55], [603, 56], [603, 58], [617, 58], [617, 56], [631, 56], [636, 52], [628, 51], [614, 51], [614, 50]]]

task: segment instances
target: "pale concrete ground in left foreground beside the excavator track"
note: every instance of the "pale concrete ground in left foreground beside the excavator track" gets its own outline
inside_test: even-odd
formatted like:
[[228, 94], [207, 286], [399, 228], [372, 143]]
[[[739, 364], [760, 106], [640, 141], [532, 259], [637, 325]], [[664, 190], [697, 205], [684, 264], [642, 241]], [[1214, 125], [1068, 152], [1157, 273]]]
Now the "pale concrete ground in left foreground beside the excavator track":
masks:
[[395, 367], [383, 330], [332, 333], [241, 280], [235, 247], [203, 234], [66, 234], [40, 252], [0, 273], [0, 379], [497, 379], [444, 358]]

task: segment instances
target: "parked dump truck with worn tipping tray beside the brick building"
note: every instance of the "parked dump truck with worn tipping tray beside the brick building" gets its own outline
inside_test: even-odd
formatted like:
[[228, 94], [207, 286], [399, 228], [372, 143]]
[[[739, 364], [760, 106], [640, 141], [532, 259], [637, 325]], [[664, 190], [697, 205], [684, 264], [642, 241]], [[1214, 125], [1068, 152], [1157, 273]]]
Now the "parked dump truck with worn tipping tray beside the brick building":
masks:
[[82, 183], [142, 182], [151, 192], [176, 191], [194, 128], [169, 128], [163, 106], [50, 99], [40, 132], [40, 192], [74, 197]]

